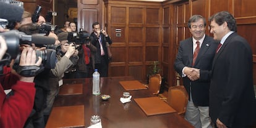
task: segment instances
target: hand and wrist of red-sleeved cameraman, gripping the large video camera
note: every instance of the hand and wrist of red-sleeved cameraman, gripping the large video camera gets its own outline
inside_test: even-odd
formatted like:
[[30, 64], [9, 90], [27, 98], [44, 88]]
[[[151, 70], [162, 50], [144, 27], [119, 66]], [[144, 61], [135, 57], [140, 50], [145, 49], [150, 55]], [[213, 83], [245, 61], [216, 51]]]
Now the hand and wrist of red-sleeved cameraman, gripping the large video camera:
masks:
[[[36, 53], [31, 47], [26, 47], [22, 50], [20, 55], [20, 66], [40, 66], [42, 58], [38, 57], [36, 62]], [[35, 77], [24, 77], [20, 76], [20, 81], [23, 82], [33, 82]]]

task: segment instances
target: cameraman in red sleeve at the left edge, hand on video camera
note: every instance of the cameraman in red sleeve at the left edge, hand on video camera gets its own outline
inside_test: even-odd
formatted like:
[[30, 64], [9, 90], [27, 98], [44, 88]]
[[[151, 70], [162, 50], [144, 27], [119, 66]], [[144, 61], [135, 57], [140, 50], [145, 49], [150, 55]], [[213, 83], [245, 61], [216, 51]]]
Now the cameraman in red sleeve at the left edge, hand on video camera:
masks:
[[[0, 60], [4, 57], [6, 50], [6, 42], [0, 37]], [[36, 62], [35, 50], [25, 48], [20, 55], [19, 65], [39, 66], [41, 61], [42, 59], [39, 58]], [[33, 83], [33, 80], [35, 77], [25, 77], [15, 72], [11, 73], [11, 68], [7, 68], [7, 66], [3, 67], [2, 73], [3, 75], [0, 77], [0, 127], [23, 127], [33, 108], [35, 98], [35, 83]], [[4, 89], [12, 89], [14, 94], [7, 97]]]

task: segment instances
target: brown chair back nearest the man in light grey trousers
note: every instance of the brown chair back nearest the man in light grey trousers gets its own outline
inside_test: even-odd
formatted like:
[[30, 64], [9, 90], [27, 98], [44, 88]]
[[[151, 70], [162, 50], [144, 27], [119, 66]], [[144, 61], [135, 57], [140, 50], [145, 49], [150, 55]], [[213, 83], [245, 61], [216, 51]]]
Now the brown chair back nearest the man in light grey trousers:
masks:
[[184, 86], [169, 87], [167, 102], [178, 114], [186, 112], [188, 100], [189, 95]]

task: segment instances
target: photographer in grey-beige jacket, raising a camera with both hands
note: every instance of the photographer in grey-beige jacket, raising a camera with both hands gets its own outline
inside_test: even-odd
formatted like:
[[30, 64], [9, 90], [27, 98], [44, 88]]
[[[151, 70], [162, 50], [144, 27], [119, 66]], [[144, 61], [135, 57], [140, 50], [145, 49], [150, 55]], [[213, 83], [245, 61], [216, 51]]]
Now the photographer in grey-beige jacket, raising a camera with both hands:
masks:
[[[61, 41], [61, 45], [56, 44], [58, 54], [56, 58], [58, 62], [54, 69], [51, 69], [49, 74], [49, 93], [46, 99], [46, 109], [44, 110], [45, 122], [47, 122], [49, 114], [55, 97], [59, 94], [59, 86], [62, 86], [62, 78], [64, 77], [65, 71], [69, 70], [70, 67], [77, 63], [77, 59], [73, 57], [77, 56], [74, 44], [67, 44], [67, 33], [60, 33], [58, 36], [54, 33], [50, 33], [49, 36], [54, 37], [56, 41]], [[59, 40], [58, 40], [59, 39]], [[67, 47], [65, 46], [67, 45]]]

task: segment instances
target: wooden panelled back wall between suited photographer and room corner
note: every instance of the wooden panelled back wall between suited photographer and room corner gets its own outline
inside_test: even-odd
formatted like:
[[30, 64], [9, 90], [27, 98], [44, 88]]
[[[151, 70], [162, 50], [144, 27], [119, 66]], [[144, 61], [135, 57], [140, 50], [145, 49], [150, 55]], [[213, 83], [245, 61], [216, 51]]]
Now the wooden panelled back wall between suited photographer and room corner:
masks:
[[[149, 52], [157, 52], [156, 55], [158, 55], [157, 57], [148, 55], [149, 60], [153, 60], [152, 57], [154, 59], [161, 57], [159, 54], [161, 4], [157, 2], [105, 1], [105, 8], [106, 18], [108, 18], [106, 20], [109, 27], [108, 33], [113, 39], [111, 51], [120, 52], [117, 49], [123, 51], [113, 54], [113, 60], [109, 65], [111, 69], [109, 74], [119, 76], [120, 73], [113, 71], [118, 67], [124, 71], [123, 76], [131, 75], [136, 79], [147, 79], [147, 66], [150, 65], [150, 62], [146, 61], [147, 49]], [[116, 31], [116, 29], [121, 31]], [[147, 38], [146, 35], [150, 37]], [[115, 59], [116, 57], [117, 59]]]

